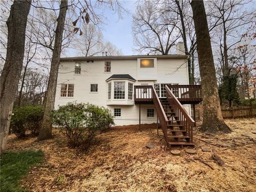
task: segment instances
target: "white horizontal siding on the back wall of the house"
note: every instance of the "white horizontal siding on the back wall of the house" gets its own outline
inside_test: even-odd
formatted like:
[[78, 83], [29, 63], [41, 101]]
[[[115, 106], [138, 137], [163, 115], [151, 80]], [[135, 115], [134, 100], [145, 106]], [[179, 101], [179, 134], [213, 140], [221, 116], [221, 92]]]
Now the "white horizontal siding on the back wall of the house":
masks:
[[[155, 63], [154, 66], [157, 70], [157, 75], [155, 76], [157, 78], [154, 81], [150, 81], [151, 79], [148, 79], [147, 81], [137, 81], [134, 82], [133, 85], [135, 86], [145, 83], [148, 85], [154, 85], [155, 83], [179, 83], [179, 85], [186, 85], [188, 84], [188, 74], [187, 64], [185, 62], [185, 59], [157, 59], [157, 63]], [[81, 61], [81, 75], [70, 73], [70, 71], [74, 71], [74, 61], [61, 61], [60, 63], [57, 80], [57, 94], [54, 103], [55, 108], [58, 108], [58, 105], [66, 105], [67, 102], [89, 102], [97, 106], [107, 107], [113, 112], [114, 108], [121, 108], [122, 116], [114, 119], [116, 125], [139, 124], [139, 105], [134, 105], [134, 102], [129, 106], [125, 106], [120, 105], [120, 103], [118, 104], [121, 100], [117, 99], [115, 100], [115, 105], [107, 105], [108, 83], [106, 82], [106, 79], [113, 74], [129, 74], [133, 78], [138, 79], [139, 72], [137, 59], [111, 60], [111, 73], [104, 73], [105, 61], [103, 60], [94, 60], [94, 62]], [[112, 100], [114, 100], [114, 82], [115, 81], [113, 81], [111, 85]], [[61, 84], [74, 84], [74, 97], [60, 97]], [[98, 84], [97, 94], [91, 93], [91, 84]], [[125, 86], [126, 99], [128, 99], [128, 86], [127, 83]], [[184, 107], [189, 110], [188, 105], [184, 105]], [[147, 109], [150, 108], [153, 109], [154, 105], [141, 105], [142, 124], [156, 123], [156, 114], [155, 117], [147, 117]]]

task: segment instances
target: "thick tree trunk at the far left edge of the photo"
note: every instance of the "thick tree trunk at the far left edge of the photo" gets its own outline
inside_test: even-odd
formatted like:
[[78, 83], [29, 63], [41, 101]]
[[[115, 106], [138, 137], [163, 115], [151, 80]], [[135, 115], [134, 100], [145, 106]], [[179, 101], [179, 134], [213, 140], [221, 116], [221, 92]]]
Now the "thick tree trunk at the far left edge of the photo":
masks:
[[8, 138], [15, 94], [18, 89], [25, 49], [29, 1], [14, 1], [7, 20], [8, 39], [1, 81], [1, 153]]

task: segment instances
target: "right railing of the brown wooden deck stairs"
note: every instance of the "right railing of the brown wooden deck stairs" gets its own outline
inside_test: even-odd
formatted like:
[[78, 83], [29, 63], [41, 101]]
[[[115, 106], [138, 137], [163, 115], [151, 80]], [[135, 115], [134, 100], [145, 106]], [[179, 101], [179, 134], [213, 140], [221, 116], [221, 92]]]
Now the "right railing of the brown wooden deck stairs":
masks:
[[193, 143], [193, 127], [196, 125], [193, 118], [188, 114], [185, 108], [181, 105], [177, 97], [173, 94], [168, 85], [165, 86], [166, 98], [174, 109], [175, 114], [179, 117], [180, 124], [183, 125]]

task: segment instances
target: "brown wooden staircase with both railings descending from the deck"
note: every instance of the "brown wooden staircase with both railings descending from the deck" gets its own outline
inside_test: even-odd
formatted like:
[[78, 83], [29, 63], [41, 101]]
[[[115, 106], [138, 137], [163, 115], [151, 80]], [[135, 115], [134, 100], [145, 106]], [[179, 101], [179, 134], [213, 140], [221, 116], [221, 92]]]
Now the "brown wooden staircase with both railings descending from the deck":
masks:
[[193, 127], [195, 121], [167, 85], [165, 89], [166, 98], [159, 99], [153, 87], [153, 101], [167, 145], [169, 147], [194, 146]]

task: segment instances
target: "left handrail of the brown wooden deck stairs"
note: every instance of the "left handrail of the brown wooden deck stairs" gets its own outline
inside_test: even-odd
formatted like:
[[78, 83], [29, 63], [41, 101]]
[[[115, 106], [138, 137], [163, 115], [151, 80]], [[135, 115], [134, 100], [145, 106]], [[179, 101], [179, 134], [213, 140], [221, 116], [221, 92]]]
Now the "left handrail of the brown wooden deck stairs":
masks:
[[[156, 113], [159, 119], [159, 122], [161, 123], [162, 130], [164, 133], [165, 140], [167, 141], [167, 124], [168, 124], [168, 118], [164, 112], [164, 108], [162, 106], [161, 101], [158, 98], [158, 95], [156, 93], [155, 87], [152, 85], [153, 90], [153, 102], [156, 108]], [[160, 110], [159, 110], [160, 109]]]

